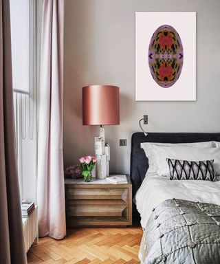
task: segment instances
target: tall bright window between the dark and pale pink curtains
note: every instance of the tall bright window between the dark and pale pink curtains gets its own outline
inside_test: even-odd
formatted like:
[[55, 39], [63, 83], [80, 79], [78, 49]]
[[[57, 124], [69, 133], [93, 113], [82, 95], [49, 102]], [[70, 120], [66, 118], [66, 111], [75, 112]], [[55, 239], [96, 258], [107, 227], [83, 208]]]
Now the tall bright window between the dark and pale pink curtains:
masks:
[[10, 0], [12, 80], [21, 199], [36, 200], [36, 0]]

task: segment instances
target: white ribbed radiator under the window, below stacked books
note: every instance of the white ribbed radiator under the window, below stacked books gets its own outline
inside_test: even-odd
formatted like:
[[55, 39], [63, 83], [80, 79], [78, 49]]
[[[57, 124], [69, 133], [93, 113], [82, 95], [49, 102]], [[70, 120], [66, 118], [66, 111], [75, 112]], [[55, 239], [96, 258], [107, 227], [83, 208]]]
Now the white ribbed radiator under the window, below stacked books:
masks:
[[25, 241], [25, 252], [27, 253], [33, 243], [39, 242], [39, 228], [37, 221], [37, 207], [30, 217], [23, 218], [23, 236]]

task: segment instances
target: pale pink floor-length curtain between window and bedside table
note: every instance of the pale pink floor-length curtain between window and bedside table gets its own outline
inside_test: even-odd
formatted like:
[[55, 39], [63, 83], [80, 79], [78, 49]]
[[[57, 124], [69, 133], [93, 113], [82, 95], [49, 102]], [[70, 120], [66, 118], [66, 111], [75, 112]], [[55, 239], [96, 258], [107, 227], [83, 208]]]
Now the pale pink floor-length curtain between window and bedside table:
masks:
[[37, 201], [39, 235], [63, 239], [63, 24], [64, 0], [43, 0]]

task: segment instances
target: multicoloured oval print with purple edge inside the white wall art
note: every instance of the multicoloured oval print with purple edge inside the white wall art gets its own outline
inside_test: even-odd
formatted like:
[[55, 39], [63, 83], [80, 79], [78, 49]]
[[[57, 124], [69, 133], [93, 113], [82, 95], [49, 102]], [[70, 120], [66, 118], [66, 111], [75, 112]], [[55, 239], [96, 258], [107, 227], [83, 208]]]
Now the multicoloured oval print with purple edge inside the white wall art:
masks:
[[148, 63], [159, 86], [168, 88], [177, 82], [184, 63], [184, 49], [175, 28], [170, 25], [157, 28], [149, 45]]

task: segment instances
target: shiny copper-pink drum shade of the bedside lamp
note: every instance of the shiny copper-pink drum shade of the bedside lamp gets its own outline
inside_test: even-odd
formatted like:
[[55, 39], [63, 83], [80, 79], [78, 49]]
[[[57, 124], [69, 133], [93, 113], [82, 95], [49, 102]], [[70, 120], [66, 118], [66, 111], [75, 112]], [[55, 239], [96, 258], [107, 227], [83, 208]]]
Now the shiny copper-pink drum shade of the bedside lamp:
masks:
[[112, 85], [83, 87], [83, 124], [120, 124], [119, 87]]

